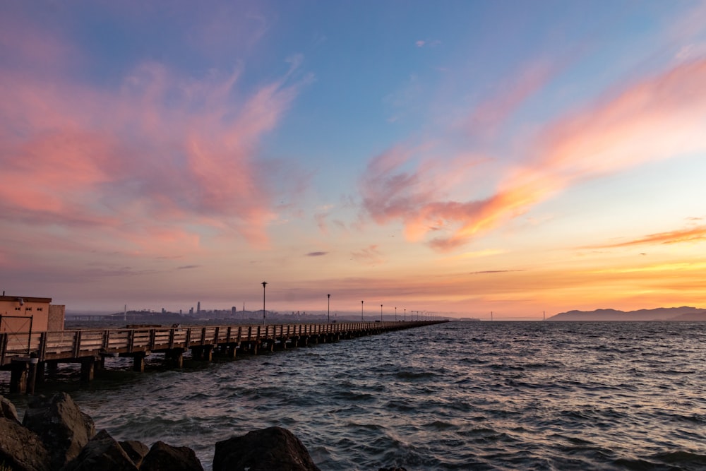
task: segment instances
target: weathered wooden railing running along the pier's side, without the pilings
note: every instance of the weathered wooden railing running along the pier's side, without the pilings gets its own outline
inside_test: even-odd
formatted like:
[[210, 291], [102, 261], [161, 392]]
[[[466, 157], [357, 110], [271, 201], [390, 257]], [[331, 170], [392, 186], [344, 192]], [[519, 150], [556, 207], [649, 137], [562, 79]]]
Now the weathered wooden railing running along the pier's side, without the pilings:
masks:
[[294, 323], [61, 330], [17, 335], [0, 333], [0, 367], [18, 359], [45, 362], [102, 355], [167, 352], [241, 342], [287, 342], [295, 338], [367, 335], [424, 326], [438, 321]]

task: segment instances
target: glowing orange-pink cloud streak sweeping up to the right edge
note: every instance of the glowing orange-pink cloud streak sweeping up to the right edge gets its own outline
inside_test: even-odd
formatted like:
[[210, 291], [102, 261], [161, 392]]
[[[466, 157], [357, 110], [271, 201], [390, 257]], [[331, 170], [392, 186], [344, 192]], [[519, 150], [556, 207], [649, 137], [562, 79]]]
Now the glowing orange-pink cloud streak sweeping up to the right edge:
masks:
[[[494, 193], [448, 201], [429, 169], [412, 168], [412, 151], [395, 148], [371, 160], [361, 179], [366, 213], [379, 224], [402, 220], [407, 236], [441, 234], [439, 250], [467, 244], [533, 205], [584, 179], [650, 160], [706, 150], [706, 59], [679, 64], [606, 95], [549, 124], [510, 167]], [[455, 168], [447, 171], [454, 176]]]

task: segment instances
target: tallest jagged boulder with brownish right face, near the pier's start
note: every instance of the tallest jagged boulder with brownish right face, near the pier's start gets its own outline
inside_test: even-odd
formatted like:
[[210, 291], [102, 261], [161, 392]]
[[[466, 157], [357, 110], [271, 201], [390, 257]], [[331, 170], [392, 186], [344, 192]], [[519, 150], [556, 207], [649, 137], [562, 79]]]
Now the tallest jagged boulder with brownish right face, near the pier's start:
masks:
[[93, 419], [81, 412], [66, 393], [35, 398], [25, 410], [22, 423], [40, 436], [52, 456], [54, 470], [76, 458], [95, 435]]

